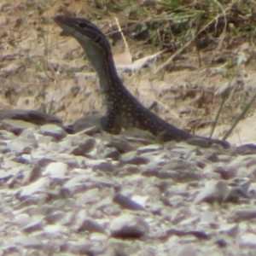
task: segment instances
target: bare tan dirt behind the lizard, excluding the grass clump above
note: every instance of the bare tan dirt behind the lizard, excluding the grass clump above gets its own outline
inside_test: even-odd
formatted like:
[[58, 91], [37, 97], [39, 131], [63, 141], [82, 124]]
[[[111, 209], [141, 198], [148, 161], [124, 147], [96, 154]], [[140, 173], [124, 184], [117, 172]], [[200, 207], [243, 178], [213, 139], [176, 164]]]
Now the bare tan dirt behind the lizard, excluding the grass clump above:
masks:
[[[52, 20], [54, 15], [65, 14], [87, 17], [96, 9], [84, 1], [4, 0], [0, 9], [0, 108], [40, 110], [61, 117], [65, 124], [90, 113], [104, 113], [98, 80], [83, 50], [73, 38], [64, 37]], [[125, 22], [124, 17], [119, 16], [119, 22]], [[111, 31], [109, 24], [114, 22], [106, 15], [97, 24], [107, 32]], [[133, 58], [159, 51], [131, 38], [126, 40]], [[113, 54], [122, 52], [123, 45], [122, 39], [119, 40], [113, 47]], [[256, 80], [253, 54], [248, 42], [236, 42], [230, 49], [201, 52], [200, 67], [198, 55], [189, 48], [167, 72], [154, 73], [154, 70], [170, 57], [170, 53], [160, 55], [150, 68], [144, 67], [135, 74], [120, 71], [120, 76], [146, 107], [180, 128], [206, 136], [221, 104], [221, 97], [214, 95], [228, 84], [234, 87], [240, 83], [225, 104], [213, 135], [223, 137], [252, 96]], [[226, 61], [220, 64], [212, 61], [219, 58]], [[231, 60], [236, 64], [240, 59], [246, 61], [232, 69], [234, 77], [230, 83], [230, 76], [225, 78], [224, 75], [229, 72], [227, 62]], [[230, 143], [256, 142], [253, 109], [236, 126]]]

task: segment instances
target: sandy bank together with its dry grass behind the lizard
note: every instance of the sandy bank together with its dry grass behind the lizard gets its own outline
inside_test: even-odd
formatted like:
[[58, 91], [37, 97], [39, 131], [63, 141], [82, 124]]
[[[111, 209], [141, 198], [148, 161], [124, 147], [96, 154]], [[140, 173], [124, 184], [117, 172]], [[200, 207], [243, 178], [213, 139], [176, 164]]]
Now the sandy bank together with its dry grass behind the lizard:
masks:
[[[222, 102], [219, 91], [231, 79], [237, 85], [224, 102], [218, 123], [230, 126], [250, 102], [253, 86], [247, 86], [246, 79], [253, 73], [255, 56], [253, 1], [20, 0], [3, 1], [0, 9], [1, 108], [38, 109], [57, 114], [66, 123], [104, 112], [90, 63], [73, 38], [61, 36], [51, 20], [54, 15], [95, 20], [104, 32], [111, 32], [114, 53], [123, 49], [123, 42], [113, 16], [134, 58], [166, 49], [153, 64], [155, 73], [140, 70], [127, 87], [175, 125], [197, 131], [214, 124]], [[127, 74], [121, 76], [128, 80]]]

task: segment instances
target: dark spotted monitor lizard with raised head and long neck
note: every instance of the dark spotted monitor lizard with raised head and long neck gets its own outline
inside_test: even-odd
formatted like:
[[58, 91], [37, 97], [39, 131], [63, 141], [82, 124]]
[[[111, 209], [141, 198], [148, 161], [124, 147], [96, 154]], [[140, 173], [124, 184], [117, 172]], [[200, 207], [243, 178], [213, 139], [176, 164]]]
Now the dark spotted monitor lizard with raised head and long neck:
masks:
[[104, 131], [116, 133], [122, 128], [137, 127], [141, 130], [150, 131], [155, 136], [160, 137], [162, 141], [186, 141], [199, 145], [201, 142], [205, 142], [207, 145], [217, 143], [224, 148], [230, 147], [226, 141], [201, 137], [183, 131], [145, 108], [125, 88], [114, 66], [108, 39], [90, 20], [67, 16], [55, 16], [54, 20], [64, 32], [73, 36], [81, 44], [99, 76], [100, 90], [107, 108], [106, 118], [102, 121]]

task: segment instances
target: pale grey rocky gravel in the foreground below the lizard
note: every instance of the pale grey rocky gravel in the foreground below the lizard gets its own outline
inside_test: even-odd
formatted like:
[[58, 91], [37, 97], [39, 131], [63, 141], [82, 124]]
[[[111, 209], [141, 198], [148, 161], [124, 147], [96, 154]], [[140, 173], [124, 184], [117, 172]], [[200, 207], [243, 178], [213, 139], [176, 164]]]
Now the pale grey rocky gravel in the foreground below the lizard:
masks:
[[1, 128], [1, 255], [255, 252], [255, 148]]

